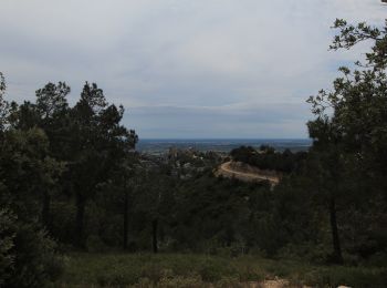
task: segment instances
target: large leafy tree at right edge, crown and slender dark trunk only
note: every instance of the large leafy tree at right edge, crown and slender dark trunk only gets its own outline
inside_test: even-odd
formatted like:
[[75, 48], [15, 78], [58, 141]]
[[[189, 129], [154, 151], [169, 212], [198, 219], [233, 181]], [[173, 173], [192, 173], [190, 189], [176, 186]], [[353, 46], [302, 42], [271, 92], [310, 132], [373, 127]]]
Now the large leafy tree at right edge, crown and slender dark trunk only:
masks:
[[[373, 43], [366, 63], [357, 61], [353, 71], [341, 68], [343, 76], [334, 81], [334, 90], [322, 90], [308, 100], [316, 116], [308, 122], [308, 131], [325, 171], [320, 187], [328, 195], [334, 260], [341, 263], [337, 199], [345, 196], [354, 200], [364, 192], [368, 202], [380, 193], [385, 199], [387, 196], [387, 22], [378, 29], [336, 20], [334, 28], [339, 33], [333, 50], [351, 49], [362, 41]], [[356, 184], [348, 185], [349, 178]]]

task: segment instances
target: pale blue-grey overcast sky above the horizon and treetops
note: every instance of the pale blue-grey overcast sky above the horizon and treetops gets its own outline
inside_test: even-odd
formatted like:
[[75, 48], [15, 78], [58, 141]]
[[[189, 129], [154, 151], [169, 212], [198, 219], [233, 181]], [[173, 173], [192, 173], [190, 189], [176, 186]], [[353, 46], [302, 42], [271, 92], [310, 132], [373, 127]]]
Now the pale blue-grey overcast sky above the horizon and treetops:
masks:
[[0, 0], [7, 97], [85, 81], [140, 138], [301, 138], [305, 102], [367, 44], [328, 51], [336, 18], [381, 25], [380, 0]]

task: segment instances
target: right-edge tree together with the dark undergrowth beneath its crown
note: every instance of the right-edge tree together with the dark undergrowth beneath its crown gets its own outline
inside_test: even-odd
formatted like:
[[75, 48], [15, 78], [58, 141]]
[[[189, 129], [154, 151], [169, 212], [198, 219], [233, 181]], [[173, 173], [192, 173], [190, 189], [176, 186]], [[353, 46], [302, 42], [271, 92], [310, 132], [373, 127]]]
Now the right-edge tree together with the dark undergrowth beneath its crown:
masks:
[[[318, 163], [318, 176], [312, 178], [316, 179], [321, 200], [328, 207], [336, 261], [342, 258], [341, 244], [362, 257], [386, 249], [374, 235], [383, 230], [386, 217], [381, 200], [387, 188], [386, 27], [387, 22], [384, 29], [378, 29], [336, 20], [334, 28], [339, 34], [331, 48], [351, 49], [358, 42], [370, 41], [367, 64], [357, 62], [354, 71], [341, 68], [343, 76], [334, 81], [333, 91], [322, 90], [308, 100], [316, 116], [307, 125]], [[363, 229], [355, 228], [355, 218]], [[351, 237], [357, 238], [356, 245]]]

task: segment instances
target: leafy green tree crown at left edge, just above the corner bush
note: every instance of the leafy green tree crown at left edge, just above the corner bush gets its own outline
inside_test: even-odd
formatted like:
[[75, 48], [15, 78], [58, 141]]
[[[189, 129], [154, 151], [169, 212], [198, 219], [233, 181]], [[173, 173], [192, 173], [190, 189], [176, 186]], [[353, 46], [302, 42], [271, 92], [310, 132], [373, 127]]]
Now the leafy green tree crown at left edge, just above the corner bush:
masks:
[[7, 131], [0, 143], [0, 179], [8, 193], [11, 209], [21, 220], [39, 215], [43, 191], [57, 182], [63, 163], [49, 156], [44, 131]]

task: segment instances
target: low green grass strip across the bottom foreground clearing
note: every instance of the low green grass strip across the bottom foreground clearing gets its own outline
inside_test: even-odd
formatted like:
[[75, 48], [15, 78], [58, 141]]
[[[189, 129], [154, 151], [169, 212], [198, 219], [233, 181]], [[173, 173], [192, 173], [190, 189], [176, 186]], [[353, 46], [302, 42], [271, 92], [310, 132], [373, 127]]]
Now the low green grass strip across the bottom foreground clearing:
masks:
[[264, 279], [292, 287], [387, 287], [387, 268], [313, 266], [252, 256], [71, 254], [55, 287], [243, 287]]

